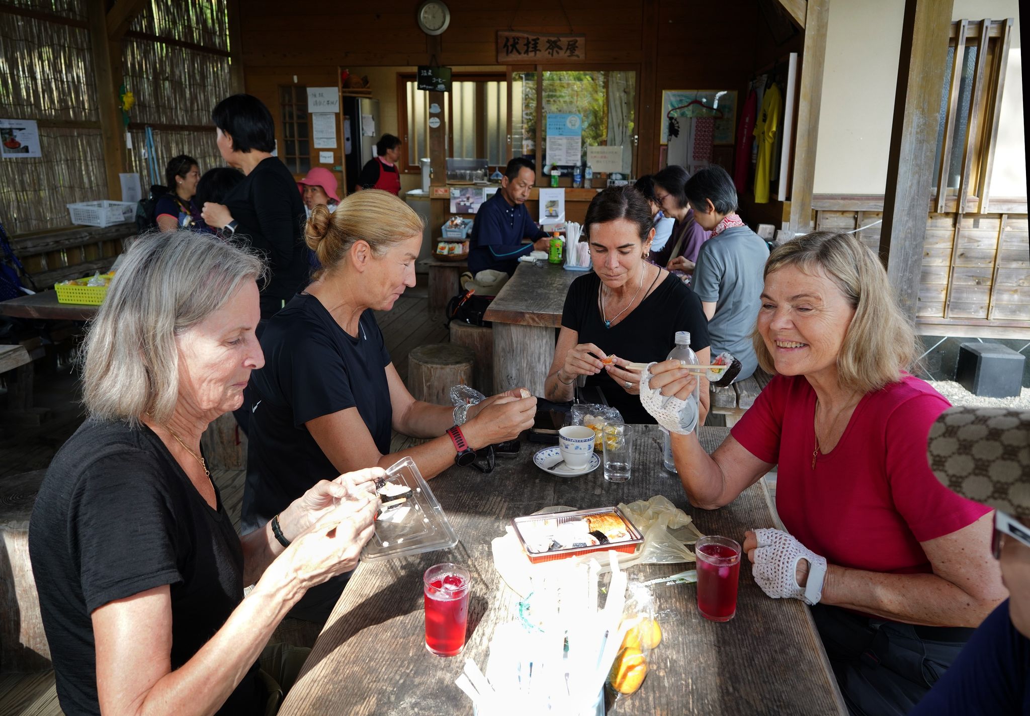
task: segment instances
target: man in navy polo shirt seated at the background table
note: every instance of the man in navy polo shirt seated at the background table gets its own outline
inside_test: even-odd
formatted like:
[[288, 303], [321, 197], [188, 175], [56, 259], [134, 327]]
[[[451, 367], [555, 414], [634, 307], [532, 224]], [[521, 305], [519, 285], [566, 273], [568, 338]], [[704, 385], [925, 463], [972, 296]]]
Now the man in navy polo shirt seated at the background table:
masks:
[[[525, 208], [536, 179], [529, 160], [516, 157], [508, 163], [501, 189], [483, 202], [472, 225], [469, 270], [473, 274], [493, 269], [511, 275], [518, 268], [519, 257], [548, 249], [547, 234]], [[523, 244], [522, 239], [533, 243]]]

